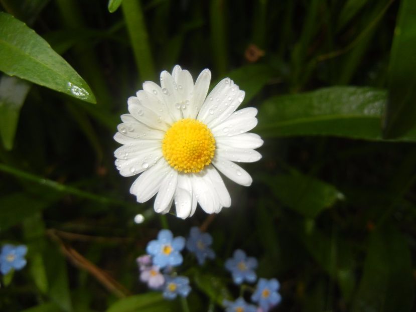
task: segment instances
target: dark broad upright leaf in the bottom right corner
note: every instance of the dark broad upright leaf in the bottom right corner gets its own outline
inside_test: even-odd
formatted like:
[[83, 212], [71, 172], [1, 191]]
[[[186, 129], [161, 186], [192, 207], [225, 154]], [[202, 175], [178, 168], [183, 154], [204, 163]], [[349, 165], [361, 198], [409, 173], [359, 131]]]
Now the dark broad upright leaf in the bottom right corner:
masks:
[[352, 312], [409, 312], [414, 299], [410, 251], [394, 228], [376, 229], [370, 236], [363, 277]]

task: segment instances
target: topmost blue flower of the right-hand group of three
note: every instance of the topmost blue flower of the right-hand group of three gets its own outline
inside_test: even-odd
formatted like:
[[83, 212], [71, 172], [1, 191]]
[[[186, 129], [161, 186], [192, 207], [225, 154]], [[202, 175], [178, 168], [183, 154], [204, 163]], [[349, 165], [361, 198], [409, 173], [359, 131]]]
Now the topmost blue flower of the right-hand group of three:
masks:
[[244, 280], [253, 283], [257, 275], [254, 269], [257, 268], [257, 260], [253, 257], [247, 257], [241, 249], [234, 251], [233, 258], [225, 261], [225, 268], [231, 272], [234, 283], [241, 284]]

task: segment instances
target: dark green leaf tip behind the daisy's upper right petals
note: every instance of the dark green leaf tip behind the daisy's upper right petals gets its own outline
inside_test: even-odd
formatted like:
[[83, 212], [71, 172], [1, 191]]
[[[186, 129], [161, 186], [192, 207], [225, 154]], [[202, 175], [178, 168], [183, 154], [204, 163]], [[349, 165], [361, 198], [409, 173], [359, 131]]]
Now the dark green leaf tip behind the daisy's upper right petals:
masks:
[[276, 70], [265, 64], [242, 66], [227, 74], [245, 92], [244, 103], [247, 104], [276, 75]]

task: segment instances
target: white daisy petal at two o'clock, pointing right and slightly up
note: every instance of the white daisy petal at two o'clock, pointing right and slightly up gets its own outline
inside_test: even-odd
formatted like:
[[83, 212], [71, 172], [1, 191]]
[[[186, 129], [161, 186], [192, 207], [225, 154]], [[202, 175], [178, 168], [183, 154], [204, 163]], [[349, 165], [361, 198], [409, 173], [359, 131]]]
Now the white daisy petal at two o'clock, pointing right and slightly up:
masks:
[[212, 134], [217, 136], [233, 136], [250, 131], [257, 125], [257, 109], [246, 107], [233, 112], [224, 122], [211, 128]]

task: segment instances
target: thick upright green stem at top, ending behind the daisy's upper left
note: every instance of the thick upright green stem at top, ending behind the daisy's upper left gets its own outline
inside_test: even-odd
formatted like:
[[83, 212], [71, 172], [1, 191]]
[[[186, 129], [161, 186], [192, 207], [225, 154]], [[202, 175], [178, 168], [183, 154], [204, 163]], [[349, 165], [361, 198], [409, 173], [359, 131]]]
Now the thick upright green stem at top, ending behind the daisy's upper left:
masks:
[[153, 80], [155, 70], [140, 0], [124, 0], [121, 4], [134, 59], [141, 80]]

